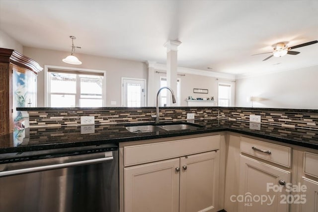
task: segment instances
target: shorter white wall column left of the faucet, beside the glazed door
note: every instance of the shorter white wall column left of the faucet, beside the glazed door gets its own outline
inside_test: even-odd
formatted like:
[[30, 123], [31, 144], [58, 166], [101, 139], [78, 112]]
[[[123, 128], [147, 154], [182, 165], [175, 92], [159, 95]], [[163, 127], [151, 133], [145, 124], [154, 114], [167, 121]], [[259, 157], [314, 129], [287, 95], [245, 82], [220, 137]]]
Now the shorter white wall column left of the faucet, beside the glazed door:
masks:
[[147, 107], [156, 107], [156, 86], [155, 86], [155, 64], [156, 62], [147, 61], [148, 74], [147, 74]]

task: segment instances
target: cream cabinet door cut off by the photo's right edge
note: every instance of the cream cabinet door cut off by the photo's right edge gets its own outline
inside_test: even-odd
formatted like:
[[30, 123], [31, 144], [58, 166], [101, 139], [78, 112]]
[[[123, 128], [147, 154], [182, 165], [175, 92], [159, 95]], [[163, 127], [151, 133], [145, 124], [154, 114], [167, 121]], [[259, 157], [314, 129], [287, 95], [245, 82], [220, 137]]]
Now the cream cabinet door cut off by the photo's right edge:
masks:
[[318, 182], [303, 178], [302, 185], [306, 185], [306, 192], [302, 192], [302, 195], [306, 195], [306, 203], [301, 204], [301, 212], [318, 212]]

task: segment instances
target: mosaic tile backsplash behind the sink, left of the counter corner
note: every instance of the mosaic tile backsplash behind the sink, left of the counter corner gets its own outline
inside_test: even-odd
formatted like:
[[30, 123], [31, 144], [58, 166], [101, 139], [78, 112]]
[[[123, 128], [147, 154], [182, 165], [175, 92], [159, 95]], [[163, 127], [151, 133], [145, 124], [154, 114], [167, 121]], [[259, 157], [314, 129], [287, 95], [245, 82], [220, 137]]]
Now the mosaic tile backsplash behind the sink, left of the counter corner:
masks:
[[[152, 122], [156, 108], [100, 109], [100, 110], [32, 110], [29, 111], [30, 127], [80, 125], [80, 116], [94, 116], [95, 124]], [[217, 118], [218, 108], [164, 108], [159, 110], [160, 121], [179, 121], [195, 113], [195, 119]]]

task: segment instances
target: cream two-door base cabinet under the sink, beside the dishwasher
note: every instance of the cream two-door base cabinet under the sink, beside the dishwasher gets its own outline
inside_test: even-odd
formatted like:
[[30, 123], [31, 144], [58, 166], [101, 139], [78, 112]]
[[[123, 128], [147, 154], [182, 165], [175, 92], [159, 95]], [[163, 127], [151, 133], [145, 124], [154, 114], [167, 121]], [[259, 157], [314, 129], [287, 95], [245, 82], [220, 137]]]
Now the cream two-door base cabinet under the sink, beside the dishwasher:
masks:
[[124, 147], [125, 212], [217, 212], [220, 136]]

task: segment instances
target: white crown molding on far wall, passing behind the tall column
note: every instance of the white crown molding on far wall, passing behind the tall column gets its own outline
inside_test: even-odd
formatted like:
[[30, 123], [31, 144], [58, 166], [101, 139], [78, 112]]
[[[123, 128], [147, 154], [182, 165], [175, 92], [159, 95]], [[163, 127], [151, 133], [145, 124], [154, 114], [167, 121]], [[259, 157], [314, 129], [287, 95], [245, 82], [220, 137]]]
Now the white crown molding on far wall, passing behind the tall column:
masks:
[[[167, 66], [165, 64], [155, 64], [156, 70], [161, 71], [167, 71]], [[190, 69], [185, 67], [178, 67], [177, 68], [178, 73], [188, 73], [188, 74], [194, 74], [194, 75], [201, 75], [201, 76], [210, 76], [210, 77], [216, 77], [216, 78], [222, 78], [222, 79], [230, 79], [235, 80], [236, 77], [234, 74], [228, 74], [228, 73], [218, 73], [213, 71], [204, 71], [199, 69]]]

